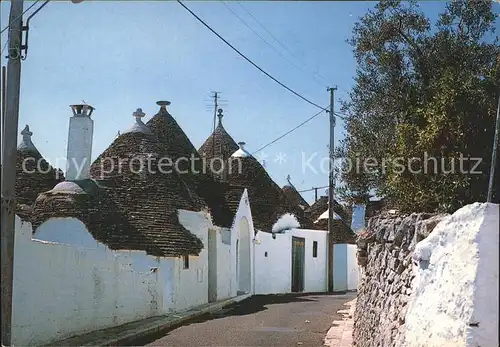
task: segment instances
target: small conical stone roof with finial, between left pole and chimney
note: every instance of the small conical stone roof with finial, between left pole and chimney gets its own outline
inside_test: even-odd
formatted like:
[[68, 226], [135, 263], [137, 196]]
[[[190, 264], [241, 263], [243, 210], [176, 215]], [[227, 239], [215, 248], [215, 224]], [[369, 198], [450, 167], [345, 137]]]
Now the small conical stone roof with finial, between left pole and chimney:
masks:
[[23, 140], [18, 146], [16, 156], [16, 214], [23, 220], [29, 220], [31, 207], [38, 195], [64, 181], [64, 174], [42, 157], [31, 142], [32, 132], [28, 126], [21, 134]]

